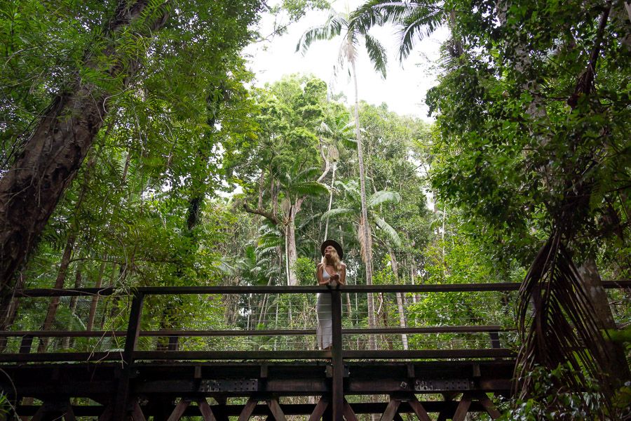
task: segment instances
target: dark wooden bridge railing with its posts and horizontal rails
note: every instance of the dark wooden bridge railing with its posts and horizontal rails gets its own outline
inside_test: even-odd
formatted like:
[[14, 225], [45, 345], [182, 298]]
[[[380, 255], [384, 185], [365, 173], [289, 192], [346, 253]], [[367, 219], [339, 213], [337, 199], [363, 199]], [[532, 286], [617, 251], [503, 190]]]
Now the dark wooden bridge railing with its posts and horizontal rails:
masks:
[[[332, 410], [334, 414], [343, 412], [344, 406], [344, 360], [383, 360], [383, 359], [511, 359], [514, 350], [501, 347], [499, 333], [514, 330], [510, 326], [422, 326], [422, 327], [379, 327], [379, 328], [342, 328], [342, 293], [458, 293], [481, 291], [515, 291], [519, 283], [484, 283], [466, 285], [419, 285], [419, 286], [194, 286], [182, 288], [147, 287], [137, 288], [128, 295], [131, 300], [129, 317], [125, 330], [4, 330], [0, 338], [21, 338], [18, 352], [0, 353], [0, 363], [42, 363], [46, 361], [121, 361], [122, 377], [118, 382], [116, 410], [113, 419], [123, 419], [128, 401], [132, 368], [137, 361], [158, 360], [311, 360], [330, 361], [332, 366]], [[604, 283], [605, 288], [629, 288], [631, 281]], [[16, 294], [21, 299], [93, 297], [113, 295], [112, 288], [78, 288], [74, 290], [31, 289]], [[332, 298], [332, 340], [330, 350], [251, 350], [251, 351], [191, 351], [177, 350], [178, 338], [183, 337], [248, 337], [248, 336], [304, 336], [314, 335], [314, 329], [245, 329], [245, 330], [142, 330], [141, 319], [145, 298], [151, 295], [244, 295], [244, 294], [315, 294], [329, 293]], [[344, 335], [416, 335], [427, 333], [488, 333], [489, 347], [476, 349], [344, 349]], [[32, 352], [35, 338], [100, 338], [111, 335], [125, 337], [124, 348], [110, 352]], [[138, 349], [139, 338], [172, 338], [170, 347], [163, 350], [146, 351]]]

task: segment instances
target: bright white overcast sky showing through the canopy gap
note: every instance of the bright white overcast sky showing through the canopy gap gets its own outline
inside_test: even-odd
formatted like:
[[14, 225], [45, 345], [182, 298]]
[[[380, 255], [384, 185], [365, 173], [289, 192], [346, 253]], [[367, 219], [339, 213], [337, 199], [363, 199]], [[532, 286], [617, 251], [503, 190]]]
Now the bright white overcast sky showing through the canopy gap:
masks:
[[[361, 1], [334, 1], [332, 6], [337, 11], [353, 10]], [[333, 86], [335, 93], [342, 92], [348, 101], [354, 98], [353, 84], [346, 69], [337, 76], [333, 67], [337, 57], [341, 39], [332, 41], [315, 41], [304, 57], [295, 53], [296, 44], [306, 29], [321, 25], [327, 18], [327, 12], [311, 11], [300, 22], [294, 23], [287, 34], [276, 36], [271, 42], [259, 42], [246, 48], [250, 69], [255, 72], [257, 86], [266, 82], [278, 81], [285, 74], [315, 74]], [[262, 34], [268, 34], [273, 27], [273, 20], [265, 16], [262, 20]], [[388, 108], [398, 114], [410, 114], [428, 119], [428, 109], [424, 105], [425, 95], [435, 85], [436, 76], [433, 63], [438, 58], [438, 48], [448, 32], [442, 28], [433, 36], [419, 42], [412, 54], [402, 65], [396, 58], [397, 44], [394, 29], [375, 28], [371, 34], [381, 41], [388, 51], [387, 78], [381, 79], [376, 74], [365, 50], [360, 50], [358, 60], [358, 91], [360, 100], [371, 104], [388, 104]]]

